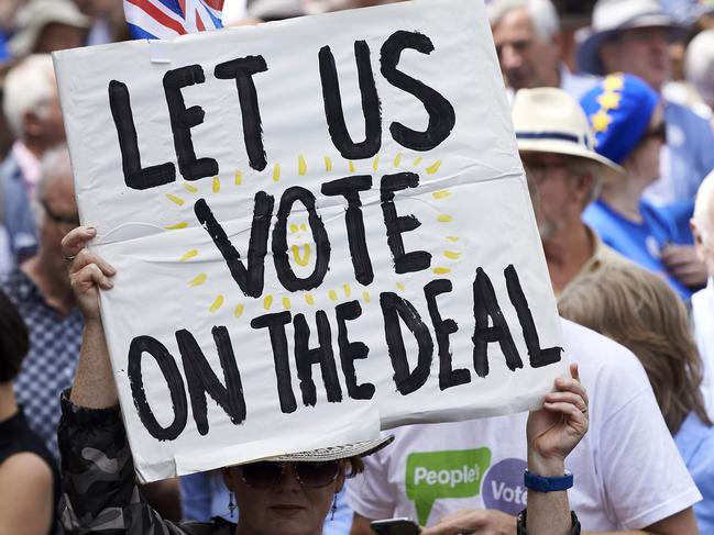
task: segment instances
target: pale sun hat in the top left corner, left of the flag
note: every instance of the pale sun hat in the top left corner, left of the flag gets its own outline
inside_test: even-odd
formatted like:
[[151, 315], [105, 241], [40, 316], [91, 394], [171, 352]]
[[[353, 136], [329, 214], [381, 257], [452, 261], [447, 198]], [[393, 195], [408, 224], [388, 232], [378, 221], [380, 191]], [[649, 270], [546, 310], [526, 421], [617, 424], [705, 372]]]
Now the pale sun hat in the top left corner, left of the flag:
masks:
[[44, 27], [53, 23], [88, 30], [91, 19], [69, 0], [32, 0], [18, 12], [18, 31], [8, 43], [8, 51], [14, 57], [32, 54]]

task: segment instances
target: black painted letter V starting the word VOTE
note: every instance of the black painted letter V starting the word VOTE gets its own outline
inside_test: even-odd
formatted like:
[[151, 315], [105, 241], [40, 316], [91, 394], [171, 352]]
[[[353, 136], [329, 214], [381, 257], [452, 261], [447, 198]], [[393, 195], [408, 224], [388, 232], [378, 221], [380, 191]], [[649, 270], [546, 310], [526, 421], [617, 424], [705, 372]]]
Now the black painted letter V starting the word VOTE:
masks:
[[241, 255], [231, 244], [206, 200], [199, 199], [194, 204], [196, 218], [211, 236], [218, 250], [221, 252], [233, 280], [238, 282], [241, 291], [251, 298], [259, 298], [263, 293], [267, 234], [273, 214], [273, 197], [264, 191], [255, 193], [251, 238], [248, 244], [248, 268], [243, 266], [240, 259]]

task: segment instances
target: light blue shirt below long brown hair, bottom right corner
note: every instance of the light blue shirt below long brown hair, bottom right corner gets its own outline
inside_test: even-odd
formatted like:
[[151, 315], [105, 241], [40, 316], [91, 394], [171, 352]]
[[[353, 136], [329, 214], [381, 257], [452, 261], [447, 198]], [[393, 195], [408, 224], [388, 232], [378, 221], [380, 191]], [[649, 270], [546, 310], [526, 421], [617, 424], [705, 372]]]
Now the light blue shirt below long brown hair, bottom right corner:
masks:
[[702, 501], [694, 504], [699, 530], [714, 533], [714, 427], [707, 427], [692, 413], [674, 435], [674, 443], [702, 493]]

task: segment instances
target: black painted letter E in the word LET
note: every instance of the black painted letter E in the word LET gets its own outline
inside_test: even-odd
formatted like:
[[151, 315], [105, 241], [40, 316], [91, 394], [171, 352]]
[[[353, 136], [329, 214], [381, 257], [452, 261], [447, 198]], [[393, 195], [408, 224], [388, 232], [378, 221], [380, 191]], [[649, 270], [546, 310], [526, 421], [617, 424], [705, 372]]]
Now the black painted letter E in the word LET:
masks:
[[204, 122], [206, 112], [200, 105], [186, 108], [182, 93], [183, 88], [205, 81], [206, 77], [200, 65], [188, 65], [169, 70], [164, 75], [164, 92], [168, 104], [178, 169], [186, 180], [198, 180], [218, 175], [218, 163], [213, 158], [196, 158], [191, 141], [191, 129]]

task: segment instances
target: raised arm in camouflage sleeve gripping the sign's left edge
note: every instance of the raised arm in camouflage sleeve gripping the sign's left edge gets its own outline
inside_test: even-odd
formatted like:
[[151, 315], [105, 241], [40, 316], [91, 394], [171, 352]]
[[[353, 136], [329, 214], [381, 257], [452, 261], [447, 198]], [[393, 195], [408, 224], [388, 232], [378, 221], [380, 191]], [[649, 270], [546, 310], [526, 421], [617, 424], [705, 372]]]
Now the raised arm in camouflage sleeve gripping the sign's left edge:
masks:
[[78, 227], [62, 244], [85, 316], [79, 363], [69, 399], [63, 397], [58, 430], [63, 525], [68, 534], [184, 534], [146, 503], [136, 484], [99, 314], [99, 289], [112, 288], [116, 271], [86, 248], [96, 235], [94, 229]]

